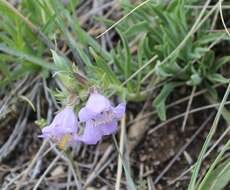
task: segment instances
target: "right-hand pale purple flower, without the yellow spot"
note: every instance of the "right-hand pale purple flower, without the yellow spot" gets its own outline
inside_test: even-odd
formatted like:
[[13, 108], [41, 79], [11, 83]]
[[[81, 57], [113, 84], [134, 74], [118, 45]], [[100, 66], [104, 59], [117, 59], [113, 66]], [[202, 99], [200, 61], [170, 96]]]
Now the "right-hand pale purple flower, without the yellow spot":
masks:
[[86, 144], [96, 144], [102, 136], [115, 133], [117, 122], [125, 113], [125, 107], [124, 103], [113, 107], [105, 96], [92, 93], [86, 106], [79, 112], [79, 120], [85, 123], [85, 129], [76, 139]]

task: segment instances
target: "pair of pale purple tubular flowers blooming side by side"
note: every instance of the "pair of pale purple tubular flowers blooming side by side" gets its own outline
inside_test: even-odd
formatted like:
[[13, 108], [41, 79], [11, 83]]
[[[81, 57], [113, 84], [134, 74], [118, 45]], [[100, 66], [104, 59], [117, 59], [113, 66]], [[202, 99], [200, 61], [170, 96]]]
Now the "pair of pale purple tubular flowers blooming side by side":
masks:
[[[97, 144], [103, 136], [117, 131], [118, 120], [125, 113], [124, 103], [113, 107], [111, 102], [98, 92], [93, 92], [79, 111], [78, 117], [71, 107], [58, 113], [53, 122], [42, 129], [40, 137], [52, 139], [61, 148], [75, 142]], [[82, 131], [83, 132], [79, 132]]]

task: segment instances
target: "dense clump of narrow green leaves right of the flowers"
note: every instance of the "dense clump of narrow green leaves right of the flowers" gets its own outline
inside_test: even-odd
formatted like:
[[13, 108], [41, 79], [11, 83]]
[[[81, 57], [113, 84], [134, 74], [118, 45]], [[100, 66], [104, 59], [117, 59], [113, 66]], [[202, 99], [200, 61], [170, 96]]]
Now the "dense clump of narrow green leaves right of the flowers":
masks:
[[[209, 49], [210, 44], [226, 37], [221, 32], [210, 33], [209, 22], [206, 22], [194, 35], [189, 36], [183, 48], [175, 51], [190, 32], [193, 24], [191, 20], [195, 20], [191, 18], [193, 15], [191, 10], [185, 8], [186, 3], [184, 0], [174, 0], [168, 5], [151, 2], [135, 11], [126, 22], [119, 25], [120, 31], [126, 34], [128, 40], [139, 34], [136, 38], [140, 38], [138, 43], [143, 50], [140, 51], [138, 48], [138, 53], [141, 52], [143, 63], [154, 55], [158, 56], [158, 60], [146, 68], [141, 76], [150, 76], [152, 79], [157, 77], [160, 80], [171, 79], [172, 82], [179, 82], [181, 85], [205, 88], [213, 83], [226, 83], [228, 80], [219, 71], [229, 63], [229, 58], [226, 56], [217, 59], [214, 52]], [[127, 2], [123, 3], [123, 7], [127, 12], [134, 8]], [[173, 56], [171, 56], [172, 52], [174, 52]], [[169, 55], [170, 59], [168, 59]], [[134, 64], [135, 61], [136, 59], [133, 58], [132, 63]], [[147, 82], [146, 79], [139, 83]], [[165, 101], [173, 91], [171, 87], [169, 88], [171, 90], [166, 90], [168, 84], [165, 86], [153, 102], [159, 117], [163, 120], [166, 119]], [[167, 96], [162, 98], [162, 94], [166, 91]]]

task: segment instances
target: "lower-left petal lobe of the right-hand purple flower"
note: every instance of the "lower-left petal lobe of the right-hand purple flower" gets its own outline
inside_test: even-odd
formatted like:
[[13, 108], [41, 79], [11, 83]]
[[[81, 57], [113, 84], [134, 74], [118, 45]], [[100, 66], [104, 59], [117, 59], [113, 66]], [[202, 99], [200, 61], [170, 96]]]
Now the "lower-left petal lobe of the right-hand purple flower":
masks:
[[86, 144], [97, 144], [102, 138], [102, 133], [98, 127], [95, 127], [91, 121], [86, 122], [85, 130], [82, 136], [77, 137], [77, 140], [83, 141]]

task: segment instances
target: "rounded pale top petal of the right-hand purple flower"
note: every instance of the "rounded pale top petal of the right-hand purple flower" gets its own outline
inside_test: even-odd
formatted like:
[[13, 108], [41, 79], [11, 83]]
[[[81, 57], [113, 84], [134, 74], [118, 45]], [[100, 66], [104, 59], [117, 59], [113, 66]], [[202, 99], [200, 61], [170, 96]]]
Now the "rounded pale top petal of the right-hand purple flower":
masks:
[[92, 93], [86, 103], [86, 107], [92, 112], [98, 114], [102, 111], [109, 110], [111, 108], [111, 103], [105, 96], [99, 93]]

